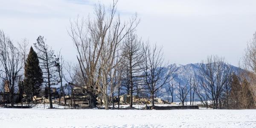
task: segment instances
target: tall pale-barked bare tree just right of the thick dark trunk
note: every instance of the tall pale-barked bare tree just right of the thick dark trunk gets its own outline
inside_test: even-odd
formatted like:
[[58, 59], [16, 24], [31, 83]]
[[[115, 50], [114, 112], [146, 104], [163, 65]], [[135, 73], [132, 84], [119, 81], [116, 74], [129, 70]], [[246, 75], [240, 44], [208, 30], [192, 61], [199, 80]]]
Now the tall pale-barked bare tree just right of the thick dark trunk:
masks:
[[[99, 12], [105, 12], [104, 9], [98, 9]], [[100, 54], [100, 68], [101, 68], [101, 83], [102, 86], [99, 87], [103, 94], [105, 109], [108, 109], [108, 87], [113, 86], [108, 83], [107, 79], [111, 78], [109, 72], [113, 70], [117, 65], [120, 64], [122, 57], [119, 61], [114, 62], [116, 58], [119, 58], [118, 52], [120, 50], [120, 45], [126, 35], [133, 32], [137, 27], [137, 16], [132, 17], [129, 23], [122, 23], [119, 17], [115, 17], [116, 14], [116, 2], [111, 6], [111, 17], [112, 19], [108, 21], [109, 29], [106, 29], [105, 37], [103, 38], [104, 43], [102, 44], [102, 51]], [[113, 20], [113, 21], [112, 21]], [[116, 21], [114, 21], [116, 20]], [[104, 32], [104, 31], [103, 31]], [[108, 75], [109, 74], [109, 75]]]

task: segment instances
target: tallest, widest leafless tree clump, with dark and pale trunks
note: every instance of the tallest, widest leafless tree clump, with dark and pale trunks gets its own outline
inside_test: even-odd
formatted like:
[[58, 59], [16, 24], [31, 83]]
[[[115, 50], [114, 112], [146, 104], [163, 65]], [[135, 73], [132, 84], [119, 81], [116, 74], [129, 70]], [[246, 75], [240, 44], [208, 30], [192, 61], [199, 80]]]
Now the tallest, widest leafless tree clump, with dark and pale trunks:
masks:
[[96, 107], [96, 97], [100, 92], [104, 96], [105, 109], [108, 109], [110, 72], [119, 65], [115, 60], [119, 57], [121, 42], [138, 24], [137, 16], [132, 17], [128, 23], [122, 23], [116, 16], [116, 3], [113, 1], [110, 12], [106, 12], [102, 4], [97, 5], [96, 18], [78, 18], [70, 23], [68, 31], [79, 54], [77, 59], [91, 107]]

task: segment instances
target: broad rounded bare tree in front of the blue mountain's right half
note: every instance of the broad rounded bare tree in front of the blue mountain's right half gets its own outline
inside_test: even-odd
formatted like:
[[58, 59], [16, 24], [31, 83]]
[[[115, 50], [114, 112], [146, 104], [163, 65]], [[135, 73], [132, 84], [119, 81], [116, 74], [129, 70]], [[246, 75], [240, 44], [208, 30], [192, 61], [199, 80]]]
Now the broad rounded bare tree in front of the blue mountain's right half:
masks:
[[206, 64], [204, 61], [200, 64], [201, 87], [205, 88], [213, 108], [219, 107], [219, 98], [223, 92], [224, 85], [230, 78], [232, 68], [225, 63], [223, 58], [218, 56], [209, 56]]

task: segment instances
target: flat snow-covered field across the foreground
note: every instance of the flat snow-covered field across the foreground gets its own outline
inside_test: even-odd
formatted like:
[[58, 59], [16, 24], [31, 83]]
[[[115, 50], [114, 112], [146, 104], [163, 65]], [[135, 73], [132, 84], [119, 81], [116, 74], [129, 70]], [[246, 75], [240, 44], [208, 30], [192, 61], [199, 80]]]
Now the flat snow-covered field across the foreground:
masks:
[[[57, 107], [57, 106], [56, 106]], [[256, 110], [0, 108], [0, 128], [256, 128]]]

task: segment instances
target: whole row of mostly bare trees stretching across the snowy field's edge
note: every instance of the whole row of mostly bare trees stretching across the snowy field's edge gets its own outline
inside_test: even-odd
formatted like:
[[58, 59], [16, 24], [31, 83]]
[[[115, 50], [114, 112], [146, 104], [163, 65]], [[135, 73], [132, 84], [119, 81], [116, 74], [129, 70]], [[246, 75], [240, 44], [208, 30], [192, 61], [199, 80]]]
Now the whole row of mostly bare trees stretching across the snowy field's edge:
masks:
[[[173, 84], [176, 69], [166, 68], [168, 63], [162, 47], [142, 41], [136, 33], [140, 23], [137, 14], [121, 20], [116, 6], [117, 2], [113, 1], [106, 11], [99, 3], [94, 15], [70, 20], [67, 32], [77, 52], [77, 63], [64, 61], [61, 52], [55, 53], [43, 36], [38, 36], [28, 51], [28, 41], [15, 47], [1, 30], [3, 105], [11, 103], [13, 107], [18, 102], [32, 107], [32, 99], [43, 89], [44, 98], [53, 108], [51, 86], [60, 85], [64, 105], [67, 95], [71, 95], [71, 105], [75, 104], [72, 93], [65, 92], [64, 88], [73, 91], [74, 87], [80, 87], [92, 108], [97, 107], [98, 99], [104, 102], [105, 109], [110, 105], [114, 108], [114, 97], [120, 99], [123, 94], [129, 96], [130, 108], [133, 108], [134, 96], [149, 98], [154, 106], [154, 98], [160, 93], [171, 93], [172, 102], [176, 95], [182, 105], [188, 96], [193, 105], [197, 96], [207, 108], [256, 108], [256, 34], [248, 43], [239, 73], [235, 73], [224, 58], [211, 55], [200, 63], [200, 73], [191, 76], [185, 85]], [[164, 92], [166, 86], [169, 90]], [[19, 93], [19, 101], [15, 101], [15, 93]], [[120, 101], [118, 108], [119, 105]]]

